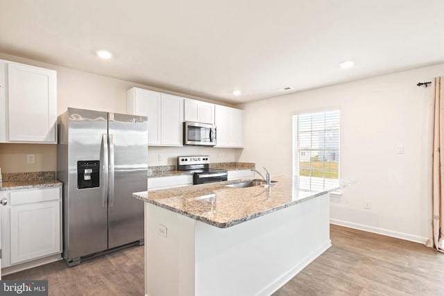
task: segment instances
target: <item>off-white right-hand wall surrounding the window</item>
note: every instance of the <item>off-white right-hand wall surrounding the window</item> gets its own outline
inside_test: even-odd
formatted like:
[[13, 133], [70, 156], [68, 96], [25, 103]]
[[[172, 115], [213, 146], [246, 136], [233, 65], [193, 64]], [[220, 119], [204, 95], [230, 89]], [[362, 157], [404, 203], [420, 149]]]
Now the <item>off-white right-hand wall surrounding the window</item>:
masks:
[[[343, 180], [357, 180], [331, 200], [333, 223], [423, 242], [431, 186], [432, 87], [444, 64], [245, 104], [239, 161], [290, 174], [291, 116], [341, 108]], [[396, 146], [404, 146], [404, 154]], [[372, 208], [364, 209], [370, 200]]]

